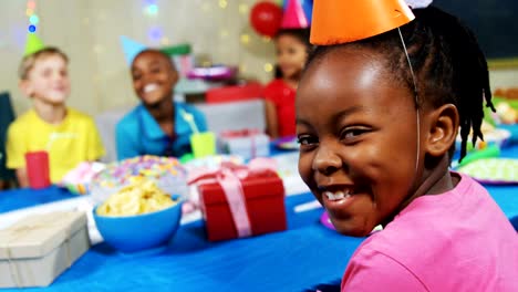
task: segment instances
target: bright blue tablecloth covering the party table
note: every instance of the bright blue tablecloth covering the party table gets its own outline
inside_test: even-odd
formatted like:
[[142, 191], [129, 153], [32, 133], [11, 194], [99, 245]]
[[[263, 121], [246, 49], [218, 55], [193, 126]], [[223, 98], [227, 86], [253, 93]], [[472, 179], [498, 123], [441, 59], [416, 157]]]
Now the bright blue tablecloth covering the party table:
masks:
[[[503, 156], [517, 157], [518, 146]], [[518, 221], [518, 185], [487, 186], [506, 216]], [[55, 187], [0, 192], [0, 207], [30, 206], [43, 197], [73, 197]], [[286, 198], [289, 229], [259, 237], [208, 242], [201, 221], [184, 225], [162, 254], [121, 254], [105, 243], [91, 248], [49, 291], [304, 291], [338, 283], [363, 238], [340, 236], [319, 222], [322, 209], [296, 213], [311, 194]], [[3, 206], [3, 207], [2, 207]], [[1, 209], [0, 209], [1, 210]], [[27, 289], [27, 291], [39, 289]], [[11, 291], [11, 290], [4, 290]], [[12, 290], [15, 291], [15, 290]]]

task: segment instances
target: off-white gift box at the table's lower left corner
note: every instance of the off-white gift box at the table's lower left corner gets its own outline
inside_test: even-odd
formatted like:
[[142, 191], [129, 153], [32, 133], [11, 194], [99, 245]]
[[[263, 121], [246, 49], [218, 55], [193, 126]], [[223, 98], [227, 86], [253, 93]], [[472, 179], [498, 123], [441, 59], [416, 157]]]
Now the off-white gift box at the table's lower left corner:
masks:
[[90, 248], [86, 215], [29, 216], [0, 230], [0, 288], [46, 286]]

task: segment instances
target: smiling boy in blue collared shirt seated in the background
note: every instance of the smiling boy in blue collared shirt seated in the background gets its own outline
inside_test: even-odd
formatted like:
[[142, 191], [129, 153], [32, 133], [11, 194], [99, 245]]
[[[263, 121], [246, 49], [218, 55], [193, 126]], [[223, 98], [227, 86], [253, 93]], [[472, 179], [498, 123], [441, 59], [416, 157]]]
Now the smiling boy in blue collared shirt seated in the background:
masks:
[[191, 124], [207, 131], [205, 116], [195, 107], [173, 101], [178, 72], [158, 50], [139, 52], [132, 63], [135, 93], [142, 104], [116, 126], [118, 159], [139, 155], [180, 157], [191, 153]]

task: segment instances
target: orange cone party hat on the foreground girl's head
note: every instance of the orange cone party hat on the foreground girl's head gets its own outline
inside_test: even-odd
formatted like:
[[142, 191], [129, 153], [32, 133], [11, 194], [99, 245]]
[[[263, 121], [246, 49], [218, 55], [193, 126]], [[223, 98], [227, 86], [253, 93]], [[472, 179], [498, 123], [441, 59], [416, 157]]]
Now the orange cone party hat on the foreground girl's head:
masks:
[[353, 42], [400, 28], [414, 19], [403, 0], [320, 0], [313, 3], [311, 43]]

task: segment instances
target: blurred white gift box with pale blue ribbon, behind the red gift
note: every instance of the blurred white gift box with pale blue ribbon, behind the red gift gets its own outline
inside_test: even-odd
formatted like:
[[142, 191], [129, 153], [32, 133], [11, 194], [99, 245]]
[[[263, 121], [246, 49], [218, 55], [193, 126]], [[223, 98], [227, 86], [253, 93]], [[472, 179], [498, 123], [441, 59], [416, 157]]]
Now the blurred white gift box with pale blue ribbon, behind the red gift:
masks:
[[270, 155], [270, 138], [258, 129], [221, 132], [218, 146], [220, 153], [239, 155], [245, 159]]

